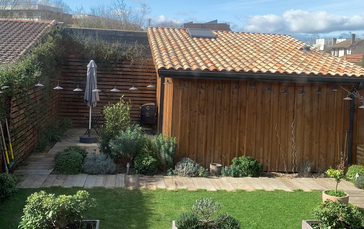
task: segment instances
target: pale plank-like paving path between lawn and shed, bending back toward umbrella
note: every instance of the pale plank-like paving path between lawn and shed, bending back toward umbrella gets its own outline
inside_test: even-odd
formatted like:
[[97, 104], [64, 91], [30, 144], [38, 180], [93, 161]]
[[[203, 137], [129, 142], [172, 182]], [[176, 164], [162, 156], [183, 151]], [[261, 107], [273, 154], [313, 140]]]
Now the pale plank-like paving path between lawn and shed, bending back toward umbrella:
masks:
[[[178, 176], [144, 176], [144, 175], [88, 175], [88, 174], [50, 174], [54, 169], [54, 154], [67, 145], [80, 145], [86, 147], [88, 153], [92, 153], [98, 146], [96, 143], [83, 144], [79, 142], [79, 135], [85, 130], [74, 129], [75, 136], [71, 136], [67, 141], [57, 142], [57, 144], [46, 154], [34, 154], [29, 157], [29, 164], [17, 169], [14, 174], [21, 181], [19, 188], [38, 188], [50, 186], [62, 186], [64, 188], [145, 188], [145, 189], [187, 189], [196, 191], [205, 189], [207, 191], [227, 190], [235, 192], [238, 189], [253, 191], [264, 189], [273, 191], [277, 189], [293, 192], [301, 189], [305, 192], [312, 190], [335, 189], [336, 182], [331, 178], [268, 178], [268, 177], [178, 177]], [[339, 189], [349, 193], [349, 202], [364, 209], [364, 190], [356, 188], [351, 182], [341, 181]]]

